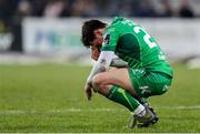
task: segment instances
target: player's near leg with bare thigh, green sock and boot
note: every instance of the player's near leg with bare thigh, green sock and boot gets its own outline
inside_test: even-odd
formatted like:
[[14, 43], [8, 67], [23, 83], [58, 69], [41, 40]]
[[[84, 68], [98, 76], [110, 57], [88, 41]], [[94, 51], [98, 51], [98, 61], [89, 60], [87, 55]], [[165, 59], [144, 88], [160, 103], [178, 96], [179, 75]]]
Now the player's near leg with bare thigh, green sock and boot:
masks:
[[93, 78], [92, 84], [99, 93], [107, 96], [109, 100], [120, 103], [128, 107], [131, 112], [134, 112], [134, 115], [142, 118], [139, 121], [147, 126], [154, 120], [152, 112], [147, 110], [134, 97], [132, 97], [131, 94], [137, 95], [137, 93], [127, 69], [117, 69], [99, 73]]

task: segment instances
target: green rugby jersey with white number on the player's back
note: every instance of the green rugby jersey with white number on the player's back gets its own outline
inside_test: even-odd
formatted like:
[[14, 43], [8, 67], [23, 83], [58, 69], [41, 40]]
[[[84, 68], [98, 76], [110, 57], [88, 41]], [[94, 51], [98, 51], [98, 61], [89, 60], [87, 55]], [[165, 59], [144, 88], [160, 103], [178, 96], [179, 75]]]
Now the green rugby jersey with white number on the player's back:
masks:
[[156, 39], [133, 21], [114, 18], [106, 28], [103, 38], [101, 51], [114, 51], [129, 66], [173, 75]]

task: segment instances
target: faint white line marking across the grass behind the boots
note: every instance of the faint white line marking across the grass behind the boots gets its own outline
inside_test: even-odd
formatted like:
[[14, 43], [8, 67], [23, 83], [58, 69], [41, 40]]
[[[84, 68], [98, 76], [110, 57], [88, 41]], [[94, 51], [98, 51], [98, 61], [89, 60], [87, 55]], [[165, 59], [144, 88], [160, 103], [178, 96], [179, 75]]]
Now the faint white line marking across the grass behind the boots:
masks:
[[[161, 110], [200, 110], [200, 105], [194, 106], [159, 106], [156, 109]], [[0, 110], [0, 115], [22, 115], [22, 114], [64, 114], [71, 112], [124, 112], [126, 109], [66, 109], [66, 110], [47, 110], [47, 111], [37, 111], [37, 110]]]

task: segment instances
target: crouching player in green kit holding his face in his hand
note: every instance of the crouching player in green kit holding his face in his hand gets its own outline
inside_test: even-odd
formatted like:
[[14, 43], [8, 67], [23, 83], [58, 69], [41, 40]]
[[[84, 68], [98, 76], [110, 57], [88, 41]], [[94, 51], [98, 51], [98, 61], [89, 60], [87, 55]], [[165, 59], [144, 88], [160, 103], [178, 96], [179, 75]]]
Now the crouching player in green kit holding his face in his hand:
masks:
[[[133, 21], [114, 18], [110, 24], [86, 21], [81, 40], [97, 60], [84, 86], [88, 100], [93, 89], [133, 113], [129, 127], [154, 124], [158, 116], [146, 99], [166, 93], [172, 81], [171, 66], [156, 39]], [[109, 70], [116, 55], [128, 66]], [[122, 66], [124, 62], [117, 61]]]

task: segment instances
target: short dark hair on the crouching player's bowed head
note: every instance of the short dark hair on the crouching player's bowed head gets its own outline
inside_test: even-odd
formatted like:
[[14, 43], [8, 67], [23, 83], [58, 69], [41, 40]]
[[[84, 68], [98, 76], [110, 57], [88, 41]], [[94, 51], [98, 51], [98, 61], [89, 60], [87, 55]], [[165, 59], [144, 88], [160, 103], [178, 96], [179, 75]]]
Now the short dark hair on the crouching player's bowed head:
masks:
[[82, 25], [82, 38], [81, 41], [86, 48], [90, 48], [90, 42], [94, 40], [93, 31], [97, 29], [102, 29], [107, 24], [99, 20], [89, 20], [86, 21]]

